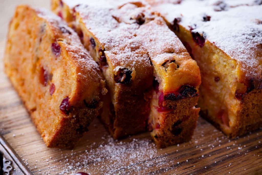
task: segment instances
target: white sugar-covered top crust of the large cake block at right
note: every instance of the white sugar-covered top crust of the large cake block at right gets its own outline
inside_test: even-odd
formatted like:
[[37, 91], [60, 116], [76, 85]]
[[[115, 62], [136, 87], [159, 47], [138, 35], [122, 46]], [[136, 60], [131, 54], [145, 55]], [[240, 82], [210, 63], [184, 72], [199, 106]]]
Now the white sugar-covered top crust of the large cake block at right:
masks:
[[[153, 8], [174, 25], [198, 33], [226, 55], [236, 60], [239, 82], [261, 79], [262, 6], [258, 1], [150, 1]], [[175, 2], [175, 1], [174, 1]], [[241, 76], [243, 75], [243, 77]]]

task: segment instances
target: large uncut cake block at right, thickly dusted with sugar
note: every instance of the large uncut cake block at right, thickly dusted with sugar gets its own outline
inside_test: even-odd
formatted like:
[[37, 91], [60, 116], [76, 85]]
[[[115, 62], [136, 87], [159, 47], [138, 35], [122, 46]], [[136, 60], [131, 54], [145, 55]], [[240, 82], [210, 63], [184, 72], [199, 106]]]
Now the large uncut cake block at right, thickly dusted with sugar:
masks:
[[148, 2], [200, 67], [202, 116], [231, 137], [261, 127], [261, 2]]

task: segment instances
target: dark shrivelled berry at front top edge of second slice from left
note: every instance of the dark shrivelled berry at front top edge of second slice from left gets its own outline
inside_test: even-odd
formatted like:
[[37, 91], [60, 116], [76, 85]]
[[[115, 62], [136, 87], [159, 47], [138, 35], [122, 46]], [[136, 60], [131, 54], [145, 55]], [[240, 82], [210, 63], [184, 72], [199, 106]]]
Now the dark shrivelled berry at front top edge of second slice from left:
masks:
[[117, 74], [114, 75], [114, 81], [116, 83], [129, 84], [131, 83], [131, 74], [133, 71], [127, 68], [121, 68], [117, 71]]

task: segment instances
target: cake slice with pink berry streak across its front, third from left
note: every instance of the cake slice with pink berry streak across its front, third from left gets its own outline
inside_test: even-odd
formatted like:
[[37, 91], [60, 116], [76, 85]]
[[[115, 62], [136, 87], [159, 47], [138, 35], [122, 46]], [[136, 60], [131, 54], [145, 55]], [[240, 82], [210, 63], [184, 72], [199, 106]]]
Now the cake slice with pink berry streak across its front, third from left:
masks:
[[201, 83], [198, 65], [163, 18], [146, 4], [130, 1], [119, 6], [115, 16], [125, 23], [132, 23], [133, 16], [140, 21], [135, 35], [142, 40], [154, 68], [148, 129], [157, 147], [189, 141], [199, 113], [195, 108]]

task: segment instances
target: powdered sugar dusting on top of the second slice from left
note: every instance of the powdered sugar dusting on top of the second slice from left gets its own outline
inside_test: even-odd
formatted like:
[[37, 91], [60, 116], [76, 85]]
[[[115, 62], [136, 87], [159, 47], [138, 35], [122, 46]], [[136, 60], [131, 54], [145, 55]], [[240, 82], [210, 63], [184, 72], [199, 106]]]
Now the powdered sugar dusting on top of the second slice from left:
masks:
[[75, 10], [86, 28], [105, 48], [112, 66], [124, 66], [131, 70], [151, 66], [141, 41], [134, 35], [139, 25], [121, 21], [119, 15], [117, 16], [118, 9], [88, 4], [80, 5]]

